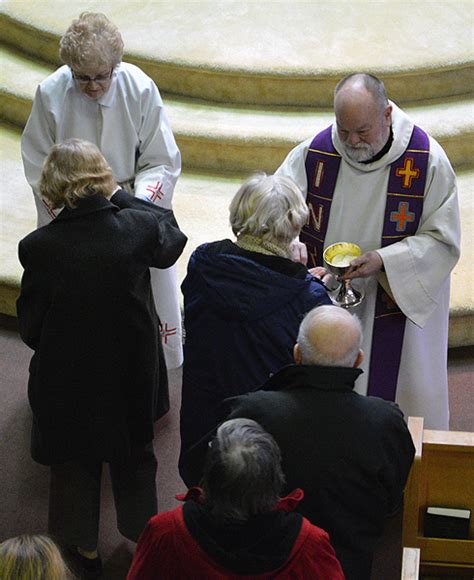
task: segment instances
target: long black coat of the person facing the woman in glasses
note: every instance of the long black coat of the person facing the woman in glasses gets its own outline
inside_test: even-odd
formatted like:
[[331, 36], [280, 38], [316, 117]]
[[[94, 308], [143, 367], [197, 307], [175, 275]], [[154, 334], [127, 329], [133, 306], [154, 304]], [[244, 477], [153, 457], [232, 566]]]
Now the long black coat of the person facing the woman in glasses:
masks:
[[171, 266], [186, 236], [170, 210], [112, 201], [83, 199], [20, 242], [32, 455], [46, 465], [125, 459], [162, 412], [149, 268]]

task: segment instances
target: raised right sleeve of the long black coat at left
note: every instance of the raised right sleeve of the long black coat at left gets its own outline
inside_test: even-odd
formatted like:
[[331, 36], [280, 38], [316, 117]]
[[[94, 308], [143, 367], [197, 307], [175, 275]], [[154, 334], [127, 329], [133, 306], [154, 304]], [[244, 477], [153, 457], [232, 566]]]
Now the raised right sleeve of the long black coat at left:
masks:
[[132, 197], [123, 189], [115, 192], [110, 201], [120, 209], [132, 209], [153, 215], [158, 224], [158, 243], [154, 251], [153, 266], [169, 268], [176, 262], [183, 253], [188, 238], [180, 230], [172, 210]]

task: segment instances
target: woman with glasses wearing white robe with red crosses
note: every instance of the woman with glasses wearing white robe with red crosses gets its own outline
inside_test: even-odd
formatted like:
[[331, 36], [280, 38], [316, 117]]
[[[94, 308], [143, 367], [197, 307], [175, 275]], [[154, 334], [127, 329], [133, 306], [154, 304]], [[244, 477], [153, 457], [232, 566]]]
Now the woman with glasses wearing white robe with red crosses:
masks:
[[[55, 217], [38, 193], [43, 163], [55, 143], [73, 137], [97, 145], [129, 193], [171, 208], [181, 155], [157, 86], [121, 62], [117, 27], [103, 14], [81, 14], [62, 37], [60, 55], [66, 64], [39, 85], [21, 143], [38, 226]], [[183, 356], [176, 268], [150, 272], [167, 366], [176, 368]]]

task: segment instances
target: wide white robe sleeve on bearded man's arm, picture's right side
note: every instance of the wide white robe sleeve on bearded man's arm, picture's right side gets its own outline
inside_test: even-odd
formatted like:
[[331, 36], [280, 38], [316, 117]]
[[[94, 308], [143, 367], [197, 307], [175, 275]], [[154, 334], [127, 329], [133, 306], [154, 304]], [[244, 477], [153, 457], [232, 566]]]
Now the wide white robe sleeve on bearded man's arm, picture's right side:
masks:
[[423, 328], [458, 261], [460, 219], [456, 178], [441, 147], [430, 139], [423, 215], [417, 233], [380, 250], [392, 294], [402, 312]]

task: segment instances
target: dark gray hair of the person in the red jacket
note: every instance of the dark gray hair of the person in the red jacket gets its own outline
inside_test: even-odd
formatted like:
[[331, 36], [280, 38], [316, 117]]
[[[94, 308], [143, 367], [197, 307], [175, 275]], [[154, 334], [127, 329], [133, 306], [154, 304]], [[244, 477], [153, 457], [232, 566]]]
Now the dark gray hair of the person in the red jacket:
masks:
[[284, 483], [280, 449], [258, 423], [231, 419], [219, 427], [201, 482], [217, 521], [242, 522], [271, 511]]

